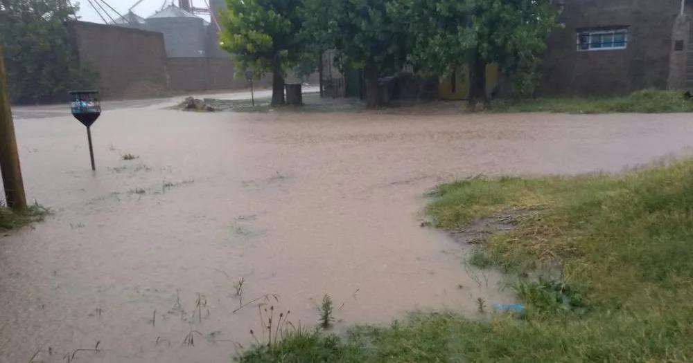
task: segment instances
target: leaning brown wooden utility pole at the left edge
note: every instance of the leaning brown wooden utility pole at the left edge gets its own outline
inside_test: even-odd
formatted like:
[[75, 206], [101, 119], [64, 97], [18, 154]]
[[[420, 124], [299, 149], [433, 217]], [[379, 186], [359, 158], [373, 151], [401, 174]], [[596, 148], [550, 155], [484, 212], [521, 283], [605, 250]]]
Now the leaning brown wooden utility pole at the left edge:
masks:
[[0, 173], [8, 207], [13, 210], [24, 210], [26, 195], [24, 183], [21, 180], [21, 169], [19, 169], [15, 125], [12, 123], [10, 109], [10, 91], [7, 86], [5, 60], [2, 54], [3, 49], [0, 44]]

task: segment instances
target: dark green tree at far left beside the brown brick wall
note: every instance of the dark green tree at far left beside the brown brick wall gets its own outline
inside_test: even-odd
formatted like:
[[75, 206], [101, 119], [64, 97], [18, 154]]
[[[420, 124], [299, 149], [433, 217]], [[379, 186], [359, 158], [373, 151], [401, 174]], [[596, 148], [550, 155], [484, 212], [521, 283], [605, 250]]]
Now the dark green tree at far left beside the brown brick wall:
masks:
[[64, 22], [76, 19], [76, 11], [65, 0], [0, 0], [0, 42], [13, 102], [62, 100], [69, 89], [94, 79], [68, 41]]

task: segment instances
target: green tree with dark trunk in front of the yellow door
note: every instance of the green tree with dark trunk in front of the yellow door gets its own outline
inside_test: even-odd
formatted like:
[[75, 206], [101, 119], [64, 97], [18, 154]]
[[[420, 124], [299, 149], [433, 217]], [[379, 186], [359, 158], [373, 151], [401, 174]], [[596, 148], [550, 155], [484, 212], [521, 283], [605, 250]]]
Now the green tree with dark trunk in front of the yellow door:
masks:
[[[469, 64], [470, 100], [486, 100], [486, 65], [498, 63], [518, 92], [536, 86], [546, 39], [556, 25], [550, 0], [401, 0], [421, 73]], [[402, 16], [402, 15], [401, 15]]]

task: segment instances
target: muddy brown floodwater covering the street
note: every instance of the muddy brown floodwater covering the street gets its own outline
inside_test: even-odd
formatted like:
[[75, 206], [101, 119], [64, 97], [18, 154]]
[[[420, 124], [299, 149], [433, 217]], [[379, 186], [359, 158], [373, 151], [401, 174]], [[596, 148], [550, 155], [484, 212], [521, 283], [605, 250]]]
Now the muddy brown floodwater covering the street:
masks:
[[[94, 174], [67, 106], [15, 109], [27, 194], [53, 215], [0, 236], [1, 362], [37, 351], [66, 362], [97, 342], [73, 362], [227, 362], [251, 329], [262, 339], [258, 304], [313, 326], [324, 294], [337, 332], [418, 309], [477, 317], [477, 298], [512, 294], [420, 226], [431, 187], [619, 171], [688, 154], [693, 140], [683, 114], [185, 113], [162, 109], [170, 102], [105, 104]], [[250, 304], [234, 313], [241, 277]]]

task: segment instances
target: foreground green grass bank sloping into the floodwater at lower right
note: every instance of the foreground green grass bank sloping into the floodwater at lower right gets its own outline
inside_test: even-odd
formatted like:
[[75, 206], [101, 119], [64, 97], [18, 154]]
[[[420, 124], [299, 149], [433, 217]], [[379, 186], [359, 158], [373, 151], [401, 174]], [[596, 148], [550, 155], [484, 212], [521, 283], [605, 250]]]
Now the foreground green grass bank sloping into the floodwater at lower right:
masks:
[[[443, 228], [509, 210], [530, 212], [473, 258], [518, 273], [552, 266], [561, 277], [519, 283], [521, 315], [416, 314], [342, 340], [292, 335], [265, 360], [243, 362], [693, 361], [693, 160], [615, 175], [464, 180], [438, 187], [427, 208]], [[328, 358], [311, 353], [317, 347]]]

